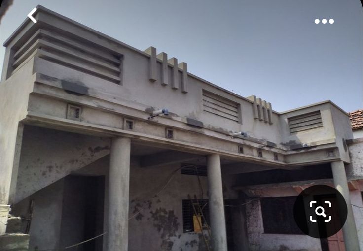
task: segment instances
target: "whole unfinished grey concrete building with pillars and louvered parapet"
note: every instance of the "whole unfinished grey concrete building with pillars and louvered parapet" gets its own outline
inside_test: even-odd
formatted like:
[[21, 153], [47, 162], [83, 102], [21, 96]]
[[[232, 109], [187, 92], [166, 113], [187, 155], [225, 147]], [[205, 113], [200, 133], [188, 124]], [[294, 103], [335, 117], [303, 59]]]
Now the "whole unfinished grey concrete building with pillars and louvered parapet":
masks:
[[[362, 250], [362, 139], [334, 103], [276, 112], [154, 47], [140, 51], [42, 6], [34, 16], [4, 44], [4, 250], [97, 236], [77, 251], [207, 250], [194, 195], [214, 251]], [[294, 230], [293, 198], [314, 184], [347, 201], [338, 239]]]

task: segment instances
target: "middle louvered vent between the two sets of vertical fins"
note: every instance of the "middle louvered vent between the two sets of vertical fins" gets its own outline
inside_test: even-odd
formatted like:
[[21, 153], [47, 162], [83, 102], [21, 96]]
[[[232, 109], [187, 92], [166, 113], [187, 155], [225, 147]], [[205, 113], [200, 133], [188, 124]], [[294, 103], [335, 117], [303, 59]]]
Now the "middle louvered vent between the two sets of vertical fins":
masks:
[[203, 110], [239, 122], [239, 104], [203, 90]]

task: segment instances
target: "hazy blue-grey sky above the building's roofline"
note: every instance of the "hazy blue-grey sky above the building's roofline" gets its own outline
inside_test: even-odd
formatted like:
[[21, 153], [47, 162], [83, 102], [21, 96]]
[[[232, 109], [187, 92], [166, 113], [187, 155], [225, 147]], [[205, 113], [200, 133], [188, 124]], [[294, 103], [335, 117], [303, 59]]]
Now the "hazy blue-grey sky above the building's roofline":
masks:
[[3, 42], [37, 4], [140, 50], [154, 46], [276, 111], [327, 99], [362, 108], [359, 0], [14, 0], [1, 20], [1, 69]]

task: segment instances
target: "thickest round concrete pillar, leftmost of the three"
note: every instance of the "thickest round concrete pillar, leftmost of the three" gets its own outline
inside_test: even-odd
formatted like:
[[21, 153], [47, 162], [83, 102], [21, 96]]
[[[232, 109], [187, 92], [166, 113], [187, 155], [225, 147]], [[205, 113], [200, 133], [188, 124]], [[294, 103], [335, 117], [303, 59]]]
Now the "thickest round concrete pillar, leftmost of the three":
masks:
[[130, 138], [112, 138], [109, 161], [108, 251], [127, 251]]

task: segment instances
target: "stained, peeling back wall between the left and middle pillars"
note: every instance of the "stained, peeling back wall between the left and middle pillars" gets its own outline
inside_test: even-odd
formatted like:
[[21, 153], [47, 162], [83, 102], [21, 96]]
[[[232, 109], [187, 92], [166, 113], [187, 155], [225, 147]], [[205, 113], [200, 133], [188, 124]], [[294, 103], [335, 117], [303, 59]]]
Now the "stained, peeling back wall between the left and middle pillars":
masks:
[[[129, 221], [129, 251], [204, 250], [202, 236], [183, 233], [182, 227], [182, 199], [188, 199], [188, 194], [192, 197], [196, 194], [200, 198], [197, 176], [184, 175], [177, 171], [167, 187], [154, 197], [179, 167], [180, 165], [160, 168], [141, 168], [137, 165], [131, 167], [129, 213], [133, 216], [139, 210], [142, 211]], [[204, 198], [207, 199], [207, 177], [200, 177], [200, 180]], [[223, 190], [224, 199], [237, 198], [230, 186], [224, 186]]]

